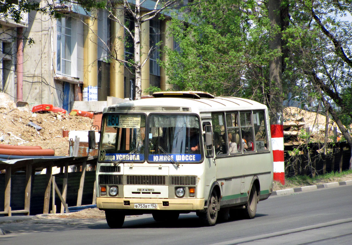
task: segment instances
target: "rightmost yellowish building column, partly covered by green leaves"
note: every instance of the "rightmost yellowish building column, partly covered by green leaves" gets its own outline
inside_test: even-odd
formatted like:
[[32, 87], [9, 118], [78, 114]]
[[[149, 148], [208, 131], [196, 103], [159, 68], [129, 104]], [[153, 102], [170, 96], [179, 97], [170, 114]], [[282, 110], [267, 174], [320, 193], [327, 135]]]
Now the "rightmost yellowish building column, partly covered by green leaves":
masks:
[[[170, 31], [170, 26], [168, 25], [170, 20], [164, 20], [164, 31], [162, 33], [162, 46], [161, 50], [164, 50], [164, 48], [174, 50], [174, 37], [171, 36], [171, 31]], [[163, 52], [161, 61], [165, 62], [165, 64], [168, 62], [168, 57], [165, 55], [165, 52]], [[165, 74], [165, 69], [163, 67], [160, 67], [160, 89], [163, 91], [166, 91], [168, 89], [172, 89], [172, 85], [166, 83], [169, 80], [169, 77]]]

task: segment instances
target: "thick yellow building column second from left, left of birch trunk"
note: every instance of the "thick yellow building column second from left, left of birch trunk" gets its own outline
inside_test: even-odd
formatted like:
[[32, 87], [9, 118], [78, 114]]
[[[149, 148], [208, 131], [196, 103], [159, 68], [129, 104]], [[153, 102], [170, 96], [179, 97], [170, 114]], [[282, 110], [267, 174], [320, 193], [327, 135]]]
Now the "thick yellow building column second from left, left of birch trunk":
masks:
[[[119, 18], [121, 23], [124, 23], [123, 6], [117, 6], [120, 9], [115, 9], [115, 16]], [[111, 47], [112, 55], [117, 59], [125, 59], [124, 46], [124, 28], [117, 21], [110, 21]], [[116, 59], [112, 59], [110, 63], [110, 96], [124, 98], [124, 65]]]

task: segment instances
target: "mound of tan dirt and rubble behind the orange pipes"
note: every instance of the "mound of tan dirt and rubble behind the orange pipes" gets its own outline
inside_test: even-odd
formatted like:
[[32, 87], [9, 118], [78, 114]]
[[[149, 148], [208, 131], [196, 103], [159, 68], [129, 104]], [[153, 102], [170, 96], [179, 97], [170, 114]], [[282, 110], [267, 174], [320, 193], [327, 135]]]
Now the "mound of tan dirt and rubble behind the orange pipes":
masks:
[[[69, 138], [62, 130], [89, 130], [93, 120], [54, 112], [31, 112], [32, 106], [16, 107], [4, 93], [0, 93], [0, 143], [22, 146], [41, 146], [54, 149], [56, 156], [68, 156]], [[32, 122], [42, 129], [29, 125]]]

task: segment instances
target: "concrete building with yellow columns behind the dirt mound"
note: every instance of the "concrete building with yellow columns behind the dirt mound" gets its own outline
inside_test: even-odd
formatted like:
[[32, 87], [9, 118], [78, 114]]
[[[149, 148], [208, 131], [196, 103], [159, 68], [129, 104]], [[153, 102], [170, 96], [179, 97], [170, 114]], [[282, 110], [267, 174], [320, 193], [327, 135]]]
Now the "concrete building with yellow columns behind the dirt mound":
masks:
[[[42, 4], [45, 4], [42, 1]], [[147, 0], [145, 6], [153, 6], [152, 0]], [[24, 35], [34, 40], [29, 45], [24, 44], [22, 69], [23, 97], [17, 95], [18, 72], [14, 72], [17, 56], [11, 62], [3, 59], [2, 67], [12, 66], [10, 73], [2, 68], [2, 90], [12, 96], [14, 101], [22, 100], [31, 105], [53, 104], [54, 106], [71, 110], [74, 101], [81, 101], [85, 88], [96, 89], [98, 101], [106, 101], [108, 96], [129, 98], [133, 92], [134, 77], [128, 67], [109, 58], [110, 51], [119, 59], [128, 59], [133, 54], [133, 46], [126, 45], [128, 38], [118, 22], [108, 18], [105, 10], [87, 14], [77, 5], [55, 6], [63, 15], [54, 19], [48, 14], [32, 11], [23, 28]], [[123, 6], [117, 9], [120, 21], [133, 26], [128, 16], [124, 16]], [[162, 41], [170, 49], [174, 41], [167, 37], [168, 19], [158, 18], [146, 21], [142, 25], [141, 44], [142, 59], [146, 56], [150, 45]], [[6, 23], [6, 25], [9, 25]], [[12, 35], [16, 36], [18, 27], [11, 27]], [[127, 36], [126, 36], [127, 37]], [[6, 46], [3, 42], [2, 56], [6, 56]], [[13, 47], [12, 53], [18, 48]], [[5, 51], [4, 51], [5, 50]], [[5, 53], [4, 53], [5, 52]], [[8, 58], [8, 57], [7, 57]], [[149, 86], [168, 89], [167, 77], [157, 60], [164, 60], [155, 50], [152, 57], [142, 68], [142, 95]], [[1, 68], [1, 67], [0, 67]], [[131, 86], [132, 85], [132, 86]], [[96, 86], [96, 87], [95, 87]], [[90, 90], [91, 92], [92, 90]], [[94, 90], [93, 90], [94, 91]], [[93, 96], [92, 96], [93, 97]], [[90, 99], [92, 99], [90, 97]]]

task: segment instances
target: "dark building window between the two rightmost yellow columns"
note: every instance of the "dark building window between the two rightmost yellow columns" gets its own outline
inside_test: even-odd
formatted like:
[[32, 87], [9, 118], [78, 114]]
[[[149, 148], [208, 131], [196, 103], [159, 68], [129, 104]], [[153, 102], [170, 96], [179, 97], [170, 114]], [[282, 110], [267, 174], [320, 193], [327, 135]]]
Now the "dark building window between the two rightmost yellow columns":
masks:
[[160, 41], [160, 22], [158, 20], [149, 21], [149, 45], [154, 50], [150, 56], [149, 69], [150, 74], [160, 76], [160, 66], [157, 62], [160, 59], [159, 46]]

